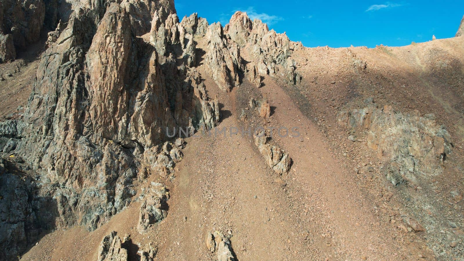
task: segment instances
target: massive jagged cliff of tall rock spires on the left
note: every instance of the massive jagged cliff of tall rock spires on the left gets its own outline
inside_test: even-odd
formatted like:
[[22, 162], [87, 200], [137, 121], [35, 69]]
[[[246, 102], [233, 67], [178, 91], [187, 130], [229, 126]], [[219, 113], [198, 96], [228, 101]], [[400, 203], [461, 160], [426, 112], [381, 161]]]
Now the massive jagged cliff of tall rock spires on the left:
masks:
[[[43, 1], [32, 2], [27, 1], [32, 11], [20, 11], [29, 12], [30, 23], [40, 20], [42, 25]], [[46, 10], [64, 8], [45, 2], [50, 3]], [[23, 159], [38, 176], [30, 182], [40, 181], [34, 193], [35, 187], [20, 185], [29, 195], [26, 209], [49, 207], [39, 204], [45, 199], [53, 203], [54, 211], [47, 215], [50, 227], [43, 230], [100, 227], [129, 205], [136, 194], [135, 179], [159, 174], [159, 168], [146, 166], [164, 166], [166, 176], [173, 178], [172, 167], [182, 154], [175, 146], [163, 149], [171, 139], [167, 129], [182, 127], [192, 134], [219, 123], [219, 101], [207, 96], [191, 68], [196, 63], [191, 33], [205, 33], [206, 20], [194, 15], [179, 23], [172, 0], [72, 5], [66, 12], [54, 12], [58, 26], [52, 23], [56, 30], [40, 58], [23, 118], [0, 123], [1, 156]], [[14, 22], [11, 17], [1, 16], [4, 27]], [[12, 32], [16, 46], [22, 45], [18, 32], [27, 45], [34, 38], [29, 36], [40, 31], [23, 25]], [[145, 37], [160, 30], [162, 42]], [[6, 235], [9, 241], [0, 240], [2, 248], [12, 246], [9, 256], [20, 255], [37, 239], [20, 224], [28, 213], [32, 211], [21, 209], [14, 217], [17, 239]], [[38, 226], [39, 221], [28, 220], [31, 229]]]

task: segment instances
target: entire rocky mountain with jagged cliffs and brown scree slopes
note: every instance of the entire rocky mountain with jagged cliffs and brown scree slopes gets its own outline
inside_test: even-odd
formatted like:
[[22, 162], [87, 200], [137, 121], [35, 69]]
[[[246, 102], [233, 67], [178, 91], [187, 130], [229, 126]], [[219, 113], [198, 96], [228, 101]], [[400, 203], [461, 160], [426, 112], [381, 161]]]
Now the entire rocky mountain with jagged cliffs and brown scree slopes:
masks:
[[30, 92], [0, 121], [1, 260], [464, 251], [462, 39], [311, 49], [173, 0], [6, 0], [0, 21], [2, 103]]

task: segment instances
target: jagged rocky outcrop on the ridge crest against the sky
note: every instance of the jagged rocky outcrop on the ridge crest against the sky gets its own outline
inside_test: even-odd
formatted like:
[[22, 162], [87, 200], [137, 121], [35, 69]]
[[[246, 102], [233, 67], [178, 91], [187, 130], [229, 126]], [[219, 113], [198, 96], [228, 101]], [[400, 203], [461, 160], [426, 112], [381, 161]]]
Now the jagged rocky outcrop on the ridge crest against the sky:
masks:
[[[259, 87], [261, 77], [277, 76], [279, 70], [288, 84], [301, 82], [296, 63], [290, 59], [293, 51], [303, 48], [301, 43], [290, 41], [285, 34], [269, 30], [261, 20], [251, 21], [246, 13], [235, 13], [224, 28], [220, 23], [211, 25], [206, 33], [208, 51], [206, 64], [216, 84], [223, 91], [230, 91], [242, 83], [244, 74]], [[251, 50], [251, 64], [243, 64], [240, 49]]]

